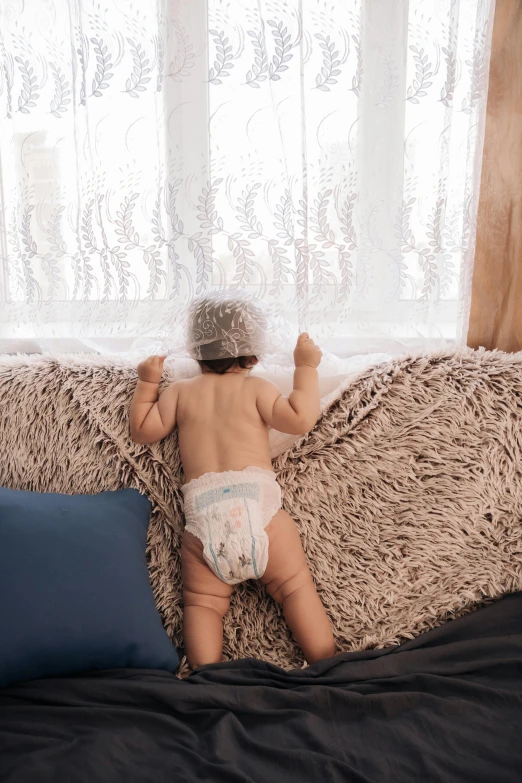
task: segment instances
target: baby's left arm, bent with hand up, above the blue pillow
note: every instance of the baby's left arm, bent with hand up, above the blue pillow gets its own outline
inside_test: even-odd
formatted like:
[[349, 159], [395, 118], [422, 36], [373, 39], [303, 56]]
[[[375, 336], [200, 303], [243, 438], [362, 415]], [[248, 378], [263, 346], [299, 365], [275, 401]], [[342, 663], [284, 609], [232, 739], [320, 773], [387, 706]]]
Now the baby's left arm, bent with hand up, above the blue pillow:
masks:
[[131, 436], [136, 443], [156, 443], [176, 426], [179, 386], [168, 386], [158, 399], [164, 356], [149, 356], [138, 365], [138, 383], [130, 408]]

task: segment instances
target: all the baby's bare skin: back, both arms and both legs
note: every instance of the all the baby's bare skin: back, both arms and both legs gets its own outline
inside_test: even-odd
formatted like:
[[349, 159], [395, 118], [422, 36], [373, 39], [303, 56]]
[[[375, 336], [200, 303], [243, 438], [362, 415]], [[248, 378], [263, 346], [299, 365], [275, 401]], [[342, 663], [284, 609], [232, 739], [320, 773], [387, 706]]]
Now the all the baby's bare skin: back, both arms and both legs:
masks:
[[[209, 472], [256, 466], [272, 470], [269, 427], [292, 434], [308, 432], [319, 416], [317, 366], [321, 351], [308, 334], [299, 336], [294, 352], [294, 390], [283, 397], [270, 381], [250, 377], [248, 370], [224, 375], [203, 371], [176, 381], [158, 399], [165, 357], [149, 357], [138, 367], [139, 381], [131, 404], [131, 434], [138, 443], [166, 437], [177, 425], [186, 481]], [[334, 654], [330, 624], [316, 593], [291, 517], [277, 512], [266, 527], [269, 557], [262, 582], [280, 603], [308, 662]], [[232, 586], [205, 563], [201, 542], [190, 533], [182, 543], [184, 636], [194, 668], [221, 660], [222, 620]]]

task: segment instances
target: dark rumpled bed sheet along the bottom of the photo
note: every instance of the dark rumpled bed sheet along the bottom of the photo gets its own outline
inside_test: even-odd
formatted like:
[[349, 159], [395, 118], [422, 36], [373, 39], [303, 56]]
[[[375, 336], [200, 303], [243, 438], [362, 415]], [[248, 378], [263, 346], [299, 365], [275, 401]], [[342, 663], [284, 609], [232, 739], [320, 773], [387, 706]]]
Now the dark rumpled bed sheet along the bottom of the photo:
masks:
[[0, 691], [2, 783], [520, 783], [522, 593], [301, 672], [120, 670]]

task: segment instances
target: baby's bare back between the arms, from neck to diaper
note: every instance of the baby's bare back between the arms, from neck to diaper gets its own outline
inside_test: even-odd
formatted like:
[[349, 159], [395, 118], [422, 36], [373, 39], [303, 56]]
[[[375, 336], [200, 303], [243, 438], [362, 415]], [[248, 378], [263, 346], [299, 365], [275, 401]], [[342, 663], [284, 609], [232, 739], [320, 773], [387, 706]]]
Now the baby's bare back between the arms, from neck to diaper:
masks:
[[203, 373], [179, 388], [177, 424], [185, 480], [204, 473], [272, 469], [259, 384], [244, 373]]

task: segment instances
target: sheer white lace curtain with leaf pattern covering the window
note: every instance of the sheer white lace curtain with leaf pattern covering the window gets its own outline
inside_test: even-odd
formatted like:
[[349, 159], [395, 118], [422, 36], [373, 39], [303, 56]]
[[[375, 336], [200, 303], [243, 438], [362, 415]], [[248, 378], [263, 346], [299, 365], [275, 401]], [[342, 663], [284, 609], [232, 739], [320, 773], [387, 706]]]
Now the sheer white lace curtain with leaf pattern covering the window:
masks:
[[467, 329], [493, 0], [4, 0], [0, 336]]

